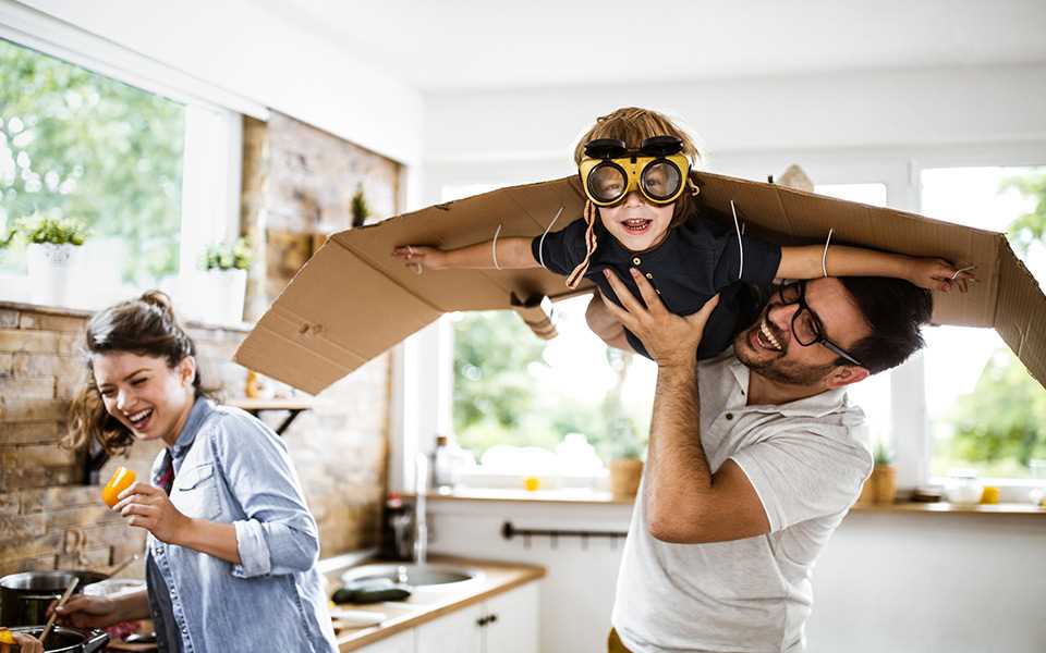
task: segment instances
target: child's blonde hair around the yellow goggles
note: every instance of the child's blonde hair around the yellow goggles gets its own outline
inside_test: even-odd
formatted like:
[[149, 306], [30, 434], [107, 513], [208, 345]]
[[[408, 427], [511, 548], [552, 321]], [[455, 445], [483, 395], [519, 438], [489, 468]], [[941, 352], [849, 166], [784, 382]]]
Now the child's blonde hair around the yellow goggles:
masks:
[[[596, 119], [596, 124], [585, 132], [577, 145], [574, 146], [574, 163], [580, 164], [585, 157], [585, 145], [596, 138], [616, 138], [623, 140], [627, 147], [637, 148], [646, 138], [653, 136], [674, 136], [683, 141], [683, 153], [690, 159], [691, 170], [701, 162], [701, 155], [693, 139], [676, 123], [662, 113], [638, 107], [623, 107]], [[693, 178], [685, 180], [686, 188], [676, 199], [672, 208], [672, 220], [668, 229], [674, 229], [686, 221], [693, 210], [693, 196], [696, 195], [696, 184]], [[585, 258], [567, 276], [567, 285], [576, 288], [581, 279], [588, 271], [588, 263], [596, 250], [598, 239], [594, 222], [588, 223], [585, 232]]]

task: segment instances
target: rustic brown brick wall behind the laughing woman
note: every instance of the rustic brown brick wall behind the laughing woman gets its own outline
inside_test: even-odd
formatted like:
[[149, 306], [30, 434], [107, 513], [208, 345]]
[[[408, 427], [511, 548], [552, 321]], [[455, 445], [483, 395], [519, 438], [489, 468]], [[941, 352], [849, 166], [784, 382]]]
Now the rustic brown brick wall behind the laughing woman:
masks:
[[[399, 169], [308, 125], [273, 113], [247, 119], [242, 225], [260, 255], [246, 315], [256, 318], [326, 234], [351, 224], [363, 183], [375, 219], [396, 211]], [[303, 245], [304, 244], [304, 245]], [[307, 250], [295, 250], [303, 245]], [[299, 248], [301, 249], [301, 248]], [[304, 258], [302, 258], [304, 256]], [[258, 279], [263, 276], [263, 279]], [[87, 313], [0, 304], [0, 574], [93, 568], [143, 550], [85, 486], [82, 459], [57, 446], [85, 369], [78, 355]], [[231, 362], [244, 332], [192, 325], [206, 386], [242, 396], [246, 370]], [[379, 357], [316, 397], [284, 440], [320, 527], [321, 555], [376, 543], [385, 494], [389, 361]], [[276, 426], [282, 415], [263, 415]], [[117, 465], [148, 478], [162, 445], [136, 443]], [[142, 575], [142, 564], [129, 575]]]

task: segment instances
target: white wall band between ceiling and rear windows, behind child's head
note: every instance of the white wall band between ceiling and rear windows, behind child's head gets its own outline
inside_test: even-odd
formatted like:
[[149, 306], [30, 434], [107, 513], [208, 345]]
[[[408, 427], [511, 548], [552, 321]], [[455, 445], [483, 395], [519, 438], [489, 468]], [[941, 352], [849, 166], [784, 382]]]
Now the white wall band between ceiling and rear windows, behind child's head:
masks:
[[426, 199], [448, 184], [571, 174], [577, 136], [629, 104], [682, 118], [710, 169], [751, 176], [781, 172], [759, 164], [765, 157], [805, 151], [881, 158], [1035, 143], [1043, 152], [1046, 65], [429, 94]]

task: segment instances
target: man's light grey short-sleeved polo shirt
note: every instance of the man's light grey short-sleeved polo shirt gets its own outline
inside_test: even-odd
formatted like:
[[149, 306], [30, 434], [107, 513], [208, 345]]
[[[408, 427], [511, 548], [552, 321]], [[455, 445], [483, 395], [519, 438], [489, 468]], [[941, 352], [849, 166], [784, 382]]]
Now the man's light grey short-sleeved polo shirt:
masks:
[[646, 528], [641, 488], [613, 627], [634, 653], [802, 651], [814, 562], [872, 470], [864, 412], [841, 389], [746, 406], [749, 369], [732, 353], [700, 364], [698, 386], [708, 466], [715, 472], [732, 458], [744, 470], [770, 532], [661, 542]]

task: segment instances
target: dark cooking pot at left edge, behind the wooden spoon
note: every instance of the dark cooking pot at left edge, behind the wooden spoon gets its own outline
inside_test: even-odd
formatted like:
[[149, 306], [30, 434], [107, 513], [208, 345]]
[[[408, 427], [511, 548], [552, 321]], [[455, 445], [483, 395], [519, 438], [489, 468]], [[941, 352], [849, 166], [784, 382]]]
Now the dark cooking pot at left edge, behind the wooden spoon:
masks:
[[73, 577], [80, 578], [76, 592], [85, 584], [108, 578], [97, 571], [23, 571], [0, 578], [0, 626], [47, 623], [47, 607], [61, 599]]

